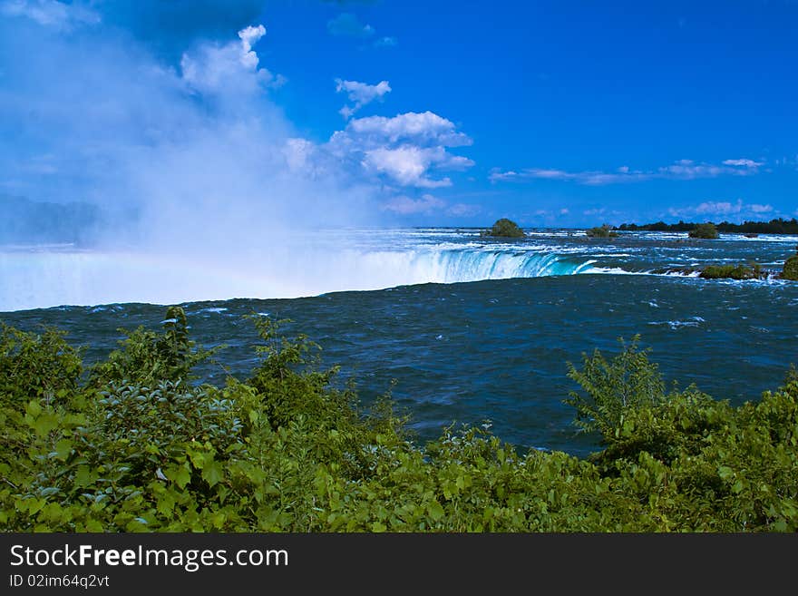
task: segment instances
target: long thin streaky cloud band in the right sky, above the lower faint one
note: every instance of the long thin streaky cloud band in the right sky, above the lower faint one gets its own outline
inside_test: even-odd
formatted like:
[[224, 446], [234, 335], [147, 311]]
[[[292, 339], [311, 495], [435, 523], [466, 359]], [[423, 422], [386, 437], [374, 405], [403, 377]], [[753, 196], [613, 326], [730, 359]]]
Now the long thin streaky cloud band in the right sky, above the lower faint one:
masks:
[[764, 161], [748, 159], [725, 160], [721, 164], [696, 163], [679, 160], [657, 170], [632, 170], [621, 166], [615, 171], [565, 171], [546, 168], [526, 168], [521, 171], [494, 169], [489, 175], [491, 182], [523, 181], [530, 179], [574, 181], [579, 184], [601, 186], [622, 182], [649, 180], [694, 180], [717, 178], [718, 176], [751, 176], [759, 172]]

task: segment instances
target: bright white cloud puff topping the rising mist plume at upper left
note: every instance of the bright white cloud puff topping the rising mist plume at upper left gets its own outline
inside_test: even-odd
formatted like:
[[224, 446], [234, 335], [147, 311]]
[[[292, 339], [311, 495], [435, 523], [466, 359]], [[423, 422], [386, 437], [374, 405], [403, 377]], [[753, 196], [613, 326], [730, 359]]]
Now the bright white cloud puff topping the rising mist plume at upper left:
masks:
[[263, 87], [281, 86], [285, 77], [259, 68], [258, 54], [252, 49], [265, 34], [266, 28], [258, 24], [238, 31], [238, 42], [199, 45], [180, 60], [183, 80], [200, 93], [224, 95], [257, 93]]

